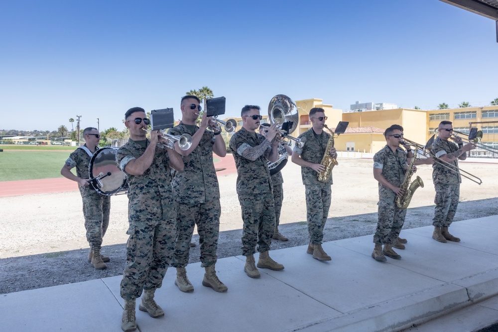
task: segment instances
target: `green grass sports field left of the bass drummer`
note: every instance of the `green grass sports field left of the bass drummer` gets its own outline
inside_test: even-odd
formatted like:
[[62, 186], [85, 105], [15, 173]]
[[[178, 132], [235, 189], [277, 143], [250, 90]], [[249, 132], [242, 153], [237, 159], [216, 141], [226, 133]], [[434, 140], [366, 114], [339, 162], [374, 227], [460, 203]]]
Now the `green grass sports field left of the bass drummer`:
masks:
[[[3, 149], [0, 152], [0, 181], [60, 178], [62, 166], [75, 149], [70, 146], [68, 151], [64, 151], [66, 149], [63, 150], [62, 147], [53, 151], [36, 151], [40, 150], [40, 146], [33, 146], [35, 149], [25, 147], [25, 151]], [[45, 150], [46, 147], [42, 148]]]

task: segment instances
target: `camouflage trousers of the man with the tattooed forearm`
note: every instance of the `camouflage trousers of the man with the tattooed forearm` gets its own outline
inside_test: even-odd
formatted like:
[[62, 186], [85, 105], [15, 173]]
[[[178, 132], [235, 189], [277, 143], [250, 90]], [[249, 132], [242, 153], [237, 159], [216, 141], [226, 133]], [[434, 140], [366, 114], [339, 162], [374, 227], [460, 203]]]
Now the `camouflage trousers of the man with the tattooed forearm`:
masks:
[[[271, 192], [255, 195], [239, 195], [242, 209], [242, 254], [270, 250], [271, 238], [275, 232], [275, 206]], [[257, 244], [257, 248], [256, 248]]]

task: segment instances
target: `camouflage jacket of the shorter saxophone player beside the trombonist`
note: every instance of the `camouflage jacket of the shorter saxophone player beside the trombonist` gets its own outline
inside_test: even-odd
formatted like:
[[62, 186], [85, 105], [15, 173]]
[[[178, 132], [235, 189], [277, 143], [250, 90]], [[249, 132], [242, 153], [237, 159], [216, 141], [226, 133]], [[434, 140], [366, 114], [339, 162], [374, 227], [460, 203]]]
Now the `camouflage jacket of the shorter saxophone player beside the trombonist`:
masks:
[[[373, 168], [380, 168], [380, 173], [384, 179], [391, 185], [400, 187], [403, 182], [404, 175], [408, 169], [405, 151], [399, 146], [395, 152], [392, 152], [388, 145], [385, 145], [380, 151], [373, 156]], [[396, 194], [387, 187], [378, 183], [379, 199], [382, 197], [396, 197]]]

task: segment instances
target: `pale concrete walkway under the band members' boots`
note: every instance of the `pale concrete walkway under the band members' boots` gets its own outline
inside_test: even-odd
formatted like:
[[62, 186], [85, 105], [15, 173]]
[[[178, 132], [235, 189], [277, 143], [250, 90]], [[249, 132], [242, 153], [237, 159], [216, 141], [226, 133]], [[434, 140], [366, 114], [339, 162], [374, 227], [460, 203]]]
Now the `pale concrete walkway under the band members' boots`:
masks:
[[[455, 222], [450, 229], [460, 243], [439, 243], [432, 229], [403, 230], [408, 243], [397, 250], [402, 259], [385, 263], [371, 257], [372, 235], [324, 243], [331, 262], [313, 259], [306, 246], [271, 251], [285, 269], [260, 269], [259, 279], [244, 273], [245, 257], [220, 259], [216, 270], [229, 287], [221, 294], [201, 285], [200, 263], [187, 266], [195, 287], [189, 294], [174, 285], [170, 269], [156, 292], [165, 317], [150, 318], [137, 301], [137, 331], [400, 331], [470, 305], [486, 308], [483, 315], [495, 322], [497, 298], [480, 301], [498, 294], [498, 216]], [[2, 295], [1, 330], [119, 332], [120, 281], [116, 276]], [[475, 317], [481, 319], [469, 315], [467, 323]]]

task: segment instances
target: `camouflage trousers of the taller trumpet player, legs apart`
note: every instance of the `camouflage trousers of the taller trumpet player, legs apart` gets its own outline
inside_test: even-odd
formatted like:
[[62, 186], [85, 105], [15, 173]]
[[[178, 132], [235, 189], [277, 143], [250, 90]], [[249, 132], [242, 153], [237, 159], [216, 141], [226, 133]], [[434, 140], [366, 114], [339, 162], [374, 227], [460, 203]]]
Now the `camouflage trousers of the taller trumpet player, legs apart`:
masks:
[[199, 244], [201, 247], [201, 267], [216, 263], [218, 256], [218, 236], [220, 233], [220, 200], [204, 204], [176, 205], [176, 243], [175, 254], [171, 266], [185, 267], [189, 261], [190, 242], [194, 226], [197, 225]]

